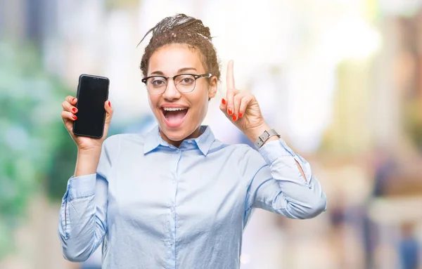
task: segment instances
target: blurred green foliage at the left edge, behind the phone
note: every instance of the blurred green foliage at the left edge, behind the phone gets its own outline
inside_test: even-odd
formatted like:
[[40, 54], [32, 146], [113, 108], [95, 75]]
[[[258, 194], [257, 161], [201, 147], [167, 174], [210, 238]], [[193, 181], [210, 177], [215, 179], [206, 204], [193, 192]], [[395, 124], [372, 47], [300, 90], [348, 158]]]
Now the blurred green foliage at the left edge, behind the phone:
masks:
[[35, 195], [60, 199], [76, 147], [60, 118], [68, 95], [28, 43], [0, 42], [0, 259], [13, 251], [13, 229]]

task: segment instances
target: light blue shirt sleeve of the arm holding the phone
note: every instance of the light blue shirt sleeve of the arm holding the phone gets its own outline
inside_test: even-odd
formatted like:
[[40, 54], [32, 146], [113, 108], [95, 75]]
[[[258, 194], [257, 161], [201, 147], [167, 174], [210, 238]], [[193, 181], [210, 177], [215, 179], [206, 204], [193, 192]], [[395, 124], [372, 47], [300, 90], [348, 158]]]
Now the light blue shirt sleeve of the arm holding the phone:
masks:
[[[117, 144], [117, 145], [116, 145]], [[86, 261], [107, 232], [108, 175], [117, 155], [118, 137], [103, 143], [96, 173], [72, 176], [60, 206], [58, 235], [68, 261]]]

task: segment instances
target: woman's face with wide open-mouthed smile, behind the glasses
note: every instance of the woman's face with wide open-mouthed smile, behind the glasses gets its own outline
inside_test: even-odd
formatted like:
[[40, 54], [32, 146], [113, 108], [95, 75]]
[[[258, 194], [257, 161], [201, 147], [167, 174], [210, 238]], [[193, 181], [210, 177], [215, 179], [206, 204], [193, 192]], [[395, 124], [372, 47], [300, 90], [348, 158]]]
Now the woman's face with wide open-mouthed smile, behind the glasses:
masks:
[[[199, 51], [183, 44], [171, 44], [159, 48], [151, 55], [147, 77], [207, 72]], [[211, 77], [196, 79], [196, 86], [190, 93], [178, 91], [173, 79], [168, 79], [167, 88], [161, 95], [151, 96], [148, 93], [149, 104], [157, 118], [162, 138], [179, 146], [186, 138], [200, 136], [199, 127], [207, 114], [208, 99], [213, 98], [216, 91], [217, 78]]]

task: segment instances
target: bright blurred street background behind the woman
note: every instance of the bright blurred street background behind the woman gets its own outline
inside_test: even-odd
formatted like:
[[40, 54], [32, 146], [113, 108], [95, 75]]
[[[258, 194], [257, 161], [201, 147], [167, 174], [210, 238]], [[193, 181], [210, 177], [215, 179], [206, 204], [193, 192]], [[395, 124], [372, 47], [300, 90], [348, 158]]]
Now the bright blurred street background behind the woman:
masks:
[[139, 43], [167, 15], [209, 26], [222, 83], [205, 124], [248, 143], [219, 111], [226, 63], [267, 122], [311, 164], [328, 211], [256, 211], [242, 268], [422, 268], [421, 0], [0, 0], [0, 268], [101, 268], [61, 254], [58, 211], [76, 147], [61, 119], [79, 74], [110, 78], [110, 135], [155, 124]]

